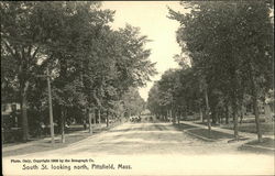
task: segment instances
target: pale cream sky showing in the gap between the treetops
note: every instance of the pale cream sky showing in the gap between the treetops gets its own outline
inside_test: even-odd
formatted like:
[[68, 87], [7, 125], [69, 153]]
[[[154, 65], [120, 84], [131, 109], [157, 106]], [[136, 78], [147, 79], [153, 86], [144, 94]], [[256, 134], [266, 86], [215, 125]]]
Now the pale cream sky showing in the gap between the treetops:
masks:
[[[102, 9], [116, 10], [113, 29], [124, 28], [127, 23], [139, 26], [141, 35], [147, 35], [152, 42], [146, 44], [152, 54], [148, 59], [156, 63], [158, 74], [152, 80], [158, 80], [162, 74], [169, 68], [179, 67], [174, 61], [175, 54], [180, 54], [176, 42], [176, 30], [179, 23], [167, 18], [167, 7], [182, 11], [184, 8], [178, 1], [105, 1]], [[141, 97], [146, 100], [153, 81], [139, 89]]]

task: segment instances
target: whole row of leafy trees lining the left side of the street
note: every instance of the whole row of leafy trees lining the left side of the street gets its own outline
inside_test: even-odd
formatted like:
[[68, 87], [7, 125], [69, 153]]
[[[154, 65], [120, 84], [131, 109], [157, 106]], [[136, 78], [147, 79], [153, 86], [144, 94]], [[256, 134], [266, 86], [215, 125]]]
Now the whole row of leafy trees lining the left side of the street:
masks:
[[131, 25], [112, 30], [114, 11], [100, 6], [0, 2], [1, 102], [20, 102], [23, 140], [29, 139], [29, 124], [47, 119], [46, 69], [54, 119], [63, 134], [72, 114], [78, 120], [89, 117], [89, 122], [96, 112], [99, 118], [106, 114], [108, 125], [111, 116], [141, 111], [133, 109], [144, 103], [136, 87], [156, 73], [144, 47], [148, 40]]

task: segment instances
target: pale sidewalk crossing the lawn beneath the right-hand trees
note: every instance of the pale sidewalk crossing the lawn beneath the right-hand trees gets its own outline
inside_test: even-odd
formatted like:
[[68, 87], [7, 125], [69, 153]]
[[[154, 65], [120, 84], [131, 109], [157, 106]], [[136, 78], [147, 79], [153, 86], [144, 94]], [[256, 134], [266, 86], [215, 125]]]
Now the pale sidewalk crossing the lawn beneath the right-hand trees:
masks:
[[[206, 130], [208, 129], [207, 125], [198, 124], [198, 123], [190, 122], [190, 121], [180, 121], [180, 123], [187, 124], [187, 125], [193, 125], [193, 127], [200, 128], [200, 129], [206, 129]], [[221, 132], [221, 133], [226, 133], [226, 134], [231, 134], [231, 135], [234, 134], [233, 130], [222, 129], [222, 128], [219, 128], [219, 127], [211, 127], [211, 131], [217, 131], [217, 132]], [[254, 148], [260, 148], [260, 150], [268, 150], [268, 151], [274, 151], [275, 152], [275, 146], [268, 147], [268, 146], [261, 146], [261, 145], [256, 145], [256, 144], [253, 144], [253, 145], [252, 144], [248, 144], [248, 143], [251, 143], [251, 142], [257, 140], [256, 134], [248, 133], [248, 132], [240, 132], [239, 131], [239, 135], [242, 136], [242, 138], [244, 138], [244, 139], [248, 139], [248, 140], [245, 140], [245, 143], [242, 144], [243, 146], [254, 147]], [[202, 138], [204, 139], [204, 136], [198, 136], [198, 138]], [[274, 140], [274, 136], [271, 136], [271, 135], [264, 135], [263, 139], [264, 138], [270, 138], [270, 139]], [[208, 140], [209, 141], [215, 141], [212, 139], [208, 139]]]

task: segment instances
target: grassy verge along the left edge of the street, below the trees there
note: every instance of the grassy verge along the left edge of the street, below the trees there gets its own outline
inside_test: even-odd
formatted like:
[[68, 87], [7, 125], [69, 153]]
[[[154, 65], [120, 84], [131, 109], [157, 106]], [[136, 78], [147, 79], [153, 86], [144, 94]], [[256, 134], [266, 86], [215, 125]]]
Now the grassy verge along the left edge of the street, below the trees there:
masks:
[[[62, 148], [62, 147], [68, 146], [69, 144], [76, 143], [76, 142], [81, 141], [84, 139], [87, 139], [88, 136], [91, 136], [94, 134], [110, 130], [111, 128], [117, 127], [118, 124], [120, 124], [120, 123], [113, 123], [109, 128], [103, 127], [101, 129], [94, 129], [92, 134], [89, 134], [88, 130], [87, 130], [87, 132], [77, 132], [76, 130], [74, 132], [70, 131], [67, 133], [69, 135], [65, 134], [65, 143], [62, 143], [61, 139], [58, 138], [58, 140], [55, 140], [54, 146], [52, 146], [51, 140], [32, 141], [31, 142], [32, 144], [28, 145], [25, 147], [20, 147], [16, 150], [2, 152], [2, 156], [4, 157], [4, 156], [13, 156], [13, 155], [23, 155], [23, 154], [30, 154], [30, 153], [35, 153], [35, 152], [43, 152], [43, 151]], [[13, 145], [20, 145], [20, 143], [6, 144], [7, 147], [13, 146]]]

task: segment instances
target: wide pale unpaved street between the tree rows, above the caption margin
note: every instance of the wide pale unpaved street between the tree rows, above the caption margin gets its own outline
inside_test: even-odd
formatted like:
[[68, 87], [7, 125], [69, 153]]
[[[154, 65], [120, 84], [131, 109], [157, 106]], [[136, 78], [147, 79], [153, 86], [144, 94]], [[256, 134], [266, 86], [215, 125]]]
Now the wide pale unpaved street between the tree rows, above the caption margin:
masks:
[[[194, 127], [195, 128], [195, 127]], [[186, 128], [190, 130], [194, 128]], [[124, 123], [102, 134], [91, 136], [54, 151], [62, 155], [146, 155], [146, 154], [222, 154], [239, 153], [237, 145], [227, 141], [212, 143], [195, 139], [170, 123]], [[48, 152], [53, 154], [53, 152]]]

